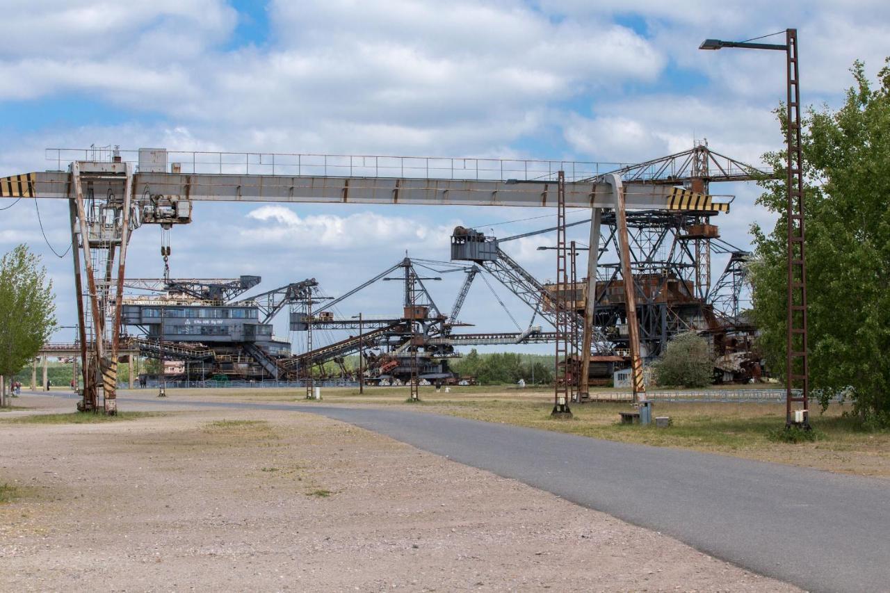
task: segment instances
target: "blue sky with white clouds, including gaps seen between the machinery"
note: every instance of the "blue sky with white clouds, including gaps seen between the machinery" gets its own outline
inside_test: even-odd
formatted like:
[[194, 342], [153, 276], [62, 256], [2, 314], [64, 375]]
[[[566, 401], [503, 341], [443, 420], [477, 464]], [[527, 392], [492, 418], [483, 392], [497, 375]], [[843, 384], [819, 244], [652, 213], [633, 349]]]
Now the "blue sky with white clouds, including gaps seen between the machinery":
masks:
[[[788, 27], [798, 29], [803, 102], [817, 108], [843, 101], [854, 60], [874, 77], [890, 53], [890, 3], [878, 0], [7, 0], [0, 176], [56, 168], [46, 149], [91, 145], [639, 162], [707, 139], [758, 165], [781, 148], [772, 111], [785, 93], [783, 54], [697, 48]], [[751, 223], [772, 226], [755, 185], [711, 191], [736, 197], [717, 219], [724, 240], [747, 248]], [[70, 241], [67, 204], [0, 207], [0, 251], [24, 242], [43, 257], [61, 326], [72, 326], [70, 254], [56, 256]], [[457, 224], [505, 236], [554, 222], [535, 208], [200, 203], [171, 232], [171, 270], [256, 274], [264, 289], [312, 277], [336, 296], [406, 251], [447, 260]], [[128, 276], [162, 274], [160, 234], [134, 233]], [[553, 243], [545, 234], [505, 249], [546, 280], [554, 252], [538, 247]], [[715, 274], [723, 264], [715, 258]], [[447, 311], [462, 279], [442, 278], [429, 284]], [[498, 296], [477, 280], [461, 318], [513, 330], [503, 302], [527, 326], [530, 311], [491, 282]], [[392, 313], [396, 284], [340, 311]], [[53, 339], [73, 336], [62, 327]]]

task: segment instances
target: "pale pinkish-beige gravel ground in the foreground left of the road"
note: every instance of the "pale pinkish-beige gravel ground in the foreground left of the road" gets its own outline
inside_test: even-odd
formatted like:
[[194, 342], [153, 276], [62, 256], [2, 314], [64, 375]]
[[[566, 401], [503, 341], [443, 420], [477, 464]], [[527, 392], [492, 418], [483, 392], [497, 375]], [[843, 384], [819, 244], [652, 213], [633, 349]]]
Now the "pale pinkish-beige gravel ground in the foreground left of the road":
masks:
[[797, 590], [307, 414], [0, 421], [0, 448], [3, 590]]

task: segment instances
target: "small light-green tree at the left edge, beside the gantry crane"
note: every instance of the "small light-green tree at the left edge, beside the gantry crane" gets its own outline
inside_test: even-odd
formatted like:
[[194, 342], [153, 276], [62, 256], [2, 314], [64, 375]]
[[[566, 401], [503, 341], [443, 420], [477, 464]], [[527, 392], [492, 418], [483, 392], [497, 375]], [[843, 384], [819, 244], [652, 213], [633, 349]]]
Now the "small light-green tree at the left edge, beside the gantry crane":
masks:
[[28, 252], [24, 245], [0, 259], [0, 377], [3, 378], [11, 378], [31, 361], [56, 326], [53, 282], [46, 280], [46, 270], [39, 264], [40, 258]]

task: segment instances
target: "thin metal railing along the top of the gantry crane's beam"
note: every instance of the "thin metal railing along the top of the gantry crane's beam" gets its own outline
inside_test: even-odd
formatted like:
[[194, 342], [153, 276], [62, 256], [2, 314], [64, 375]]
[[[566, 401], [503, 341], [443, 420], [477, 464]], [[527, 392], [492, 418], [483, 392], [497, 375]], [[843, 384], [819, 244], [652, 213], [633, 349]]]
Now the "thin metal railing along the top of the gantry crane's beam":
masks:
[[[122, 160], [139, 165], [139, 150], [118, 150]], [[45, 149], [55, 170], [75, 160], [110, 160], [111, 152], [96, 149]], [[389, 157], [273, 152], [204, 152], [168, 150], [166, 172], [178, 166], [182, 174], [284, 175], [335, 177], [400, 177], [484, 181], [546, 181], [564, 171], [578, 181], [609, 173], [628, 163], [518, 158]]]

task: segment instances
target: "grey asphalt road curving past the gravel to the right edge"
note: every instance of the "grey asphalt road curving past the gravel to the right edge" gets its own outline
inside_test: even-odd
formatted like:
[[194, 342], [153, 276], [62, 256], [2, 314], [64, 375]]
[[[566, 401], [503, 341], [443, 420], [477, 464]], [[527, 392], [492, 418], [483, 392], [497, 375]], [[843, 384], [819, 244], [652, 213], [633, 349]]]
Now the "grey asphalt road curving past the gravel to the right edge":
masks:
[[804, 589], [890, 590], [886, 481], [426, 412], [324, 404], [166, 403], [321, 414], [667, 533]]

